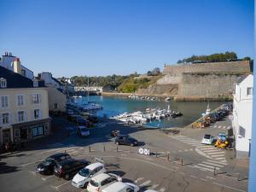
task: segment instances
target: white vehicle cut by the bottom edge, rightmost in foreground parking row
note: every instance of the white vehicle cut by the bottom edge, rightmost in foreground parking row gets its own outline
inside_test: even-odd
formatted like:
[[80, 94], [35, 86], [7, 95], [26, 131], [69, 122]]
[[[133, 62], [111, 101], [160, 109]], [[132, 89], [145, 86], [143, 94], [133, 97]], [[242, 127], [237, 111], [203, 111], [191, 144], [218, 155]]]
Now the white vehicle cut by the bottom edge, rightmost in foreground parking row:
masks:
[[116, 182], [102, 189], [102, 192], [137, 192], [139, 187], [133, 183]]

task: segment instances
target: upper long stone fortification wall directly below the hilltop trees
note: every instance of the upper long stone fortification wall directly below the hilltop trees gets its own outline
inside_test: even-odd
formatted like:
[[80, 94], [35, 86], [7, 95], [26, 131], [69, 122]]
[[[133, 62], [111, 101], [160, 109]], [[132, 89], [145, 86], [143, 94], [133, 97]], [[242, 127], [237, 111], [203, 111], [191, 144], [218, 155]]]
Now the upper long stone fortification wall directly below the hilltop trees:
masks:
[[190, 65], [167, 65], [164, 74], [180, 76], [182, 73], [249, 73], [249, 61], [209, 62]]

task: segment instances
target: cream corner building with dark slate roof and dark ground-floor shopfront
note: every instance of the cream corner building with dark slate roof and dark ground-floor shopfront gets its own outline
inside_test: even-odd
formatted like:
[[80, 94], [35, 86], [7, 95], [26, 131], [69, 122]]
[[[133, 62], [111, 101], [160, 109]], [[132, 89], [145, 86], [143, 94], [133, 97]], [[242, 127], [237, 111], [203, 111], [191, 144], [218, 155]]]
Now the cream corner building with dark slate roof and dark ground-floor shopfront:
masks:
[[0, 143], [25, 143], [50, 133], [48, 90], [0, 66]]

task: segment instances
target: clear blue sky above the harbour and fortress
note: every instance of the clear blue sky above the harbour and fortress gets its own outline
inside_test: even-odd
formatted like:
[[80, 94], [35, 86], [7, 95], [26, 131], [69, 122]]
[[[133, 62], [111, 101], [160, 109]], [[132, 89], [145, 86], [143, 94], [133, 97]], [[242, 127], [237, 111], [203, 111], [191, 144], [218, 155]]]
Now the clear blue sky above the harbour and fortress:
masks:
[[227, 50], [253, 57], [253, 0], [0, 0], [0, 54], [36, 74], [146, 73]]

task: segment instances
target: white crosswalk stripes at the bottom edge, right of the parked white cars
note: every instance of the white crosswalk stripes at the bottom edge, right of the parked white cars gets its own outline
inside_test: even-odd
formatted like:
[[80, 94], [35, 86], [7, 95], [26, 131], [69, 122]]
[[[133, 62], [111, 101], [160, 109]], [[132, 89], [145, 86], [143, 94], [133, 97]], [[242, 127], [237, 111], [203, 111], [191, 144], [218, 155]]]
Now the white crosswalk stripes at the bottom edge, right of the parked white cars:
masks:
[[134, 180], [134, 183], [136, 183], [140, 189], [143, 189], [143, 188], [153, 189], [153, 190], [157, 190], [159, 192], [166, 191], [166, 188], [160, 187], [160, 184], [153, 183], [150, 179], [146, 179], [144, 177], [138, 177], [137, 179]]

